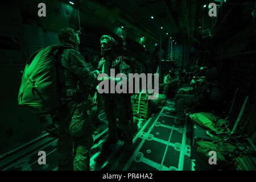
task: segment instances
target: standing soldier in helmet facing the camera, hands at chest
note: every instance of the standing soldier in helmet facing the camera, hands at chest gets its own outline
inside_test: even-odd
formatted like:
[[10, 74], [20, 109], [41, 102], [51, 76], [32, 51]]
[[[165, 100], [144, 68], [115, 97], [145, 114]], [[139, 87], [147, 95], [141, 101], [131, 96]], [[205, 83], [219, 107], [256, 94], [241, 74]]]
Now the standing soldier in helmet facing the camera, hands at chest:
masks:
[[[102, 73], [110, 75], [110, 69], [115, 69], [116, 75], [118, 73], [124, 73], [128, 77], [128, 74], [131, 73], [131, 68], [126, 64], [125, 57], [116, 55], [115, 47], [117, 47], [117, 42], [114, 38], [109, 35], [103, 35], [100, 39], [100, 43], [103, 58], [99, 63], [99, 68]], [[110, 77], [107, 79], [112, 80]], [[118, 78], [113, 79], [115, 82], [118, 81]], [[121, 129], [123, 134], [124, 149], [127, 154], [130, 154], [133, 146], [131, 97], [129, 94], [124, 93], [103, 93], [102, 98], [105, 102], [105, 113], [109, 127], [109, 139], [104, 143], [103, 148], [118, 142], [118, 118], [119, 129]]]

